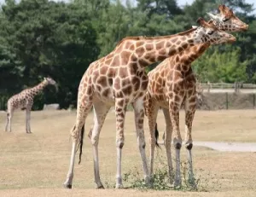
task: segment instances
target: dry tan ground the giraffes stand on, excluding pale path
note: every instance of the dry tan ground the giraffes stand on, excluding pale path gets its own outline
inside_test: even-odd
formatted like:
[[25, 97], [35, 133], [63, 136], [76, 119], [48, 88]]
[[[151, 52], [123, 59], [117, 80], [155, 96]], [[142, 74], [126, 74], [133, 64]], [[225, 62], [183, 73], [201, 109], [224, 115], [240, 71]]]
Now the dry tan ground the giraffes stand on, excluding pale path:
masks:
[[[0, 113], [0, 196], [255, 196], [255, 153], [225, 153], [202, 147], [193, 148], [194, 169], [207, 192], [94, 189], [92, 149], [87, 136], [84, 138], [81, 164], [78, 165], [76, 160], [73, 189], [67, 190], [62, 188], [62, 183], [67, 176], [71, 151], [69, 130], [73, 127], [75, 112], [32, 112], [32, 134], [25, 133], [24, 112], [15, 113], [11, 133], [4, 132], [5, 119], [5, 113]], [[197, 111], [193, 139], [256, 142], [255, 119], [254, 110]], [[90, 114], [86, 131], [92, 120]], [[145, 119], [149, 155], [147, 121]], [[180, 122], [183, 134], [183, 111]], [[114, 123], [114, 113], [110, 112], [100, 137], [100, 172], [105, 187], [115, 182]], [[160, 132], [164, 130], [162, 112], [159, 113], [158, 125]], [[173, 149], [172, 153], [174, 156]], [[160, 162], [161, 157], [165, 159], [165, 148], [159, 149], [157, 155], [155, 163]], [[182, 148], [182, 161], [186, 161], [185, 148]], [[128, 112], [125, 119], [122, 174], [130, 171], [138, 172], [143, 177], [132, 112]], [[128, 186], [129, 183], [124, 182], [124, 185]]]

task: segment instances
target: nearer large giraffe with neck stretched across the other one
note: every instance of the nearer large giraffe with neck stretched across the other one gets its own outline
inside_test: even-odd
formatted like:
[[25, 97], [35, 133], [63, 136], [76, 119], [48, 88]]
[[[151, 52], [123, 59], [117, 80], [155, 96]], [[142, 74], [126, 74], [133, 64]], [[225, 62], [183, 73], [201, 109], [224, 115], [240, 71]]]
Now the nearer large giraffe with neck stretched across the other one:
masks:
[[197, 43], [208, 42], [210, 39], [216, 40], [216, 42], [227, 39], [236, 40], [234, 36], [226, 32], [201, 23], [201, 26], [171, 36], [124, 38], [110, 54], [90, 64], [79, 84], [77, 118], [70, 133], [73, 143], [67, 179], [63, 183], [64, 188], [72, 188], [76, 149], [80, 148], [80, 162], [84, 123], [91, 107], [94, 111], [94, 125], [90, 129], [89, 136], [93, 148], [95, 183], [96, 188], [103, 188], [99, 173], [98, 142], [103, 122], [112, 106], [115, 107], [116, 116], [117, 172], [115, 187], [123, 187], [121, 156], [125, 142], [125, 112], [130, 103], [134, 109], [137, 145], [143, 161], [144, 178], [146, 183], [150, 183], [143, 130], [143, 97], [148, 86], [145, 68]]

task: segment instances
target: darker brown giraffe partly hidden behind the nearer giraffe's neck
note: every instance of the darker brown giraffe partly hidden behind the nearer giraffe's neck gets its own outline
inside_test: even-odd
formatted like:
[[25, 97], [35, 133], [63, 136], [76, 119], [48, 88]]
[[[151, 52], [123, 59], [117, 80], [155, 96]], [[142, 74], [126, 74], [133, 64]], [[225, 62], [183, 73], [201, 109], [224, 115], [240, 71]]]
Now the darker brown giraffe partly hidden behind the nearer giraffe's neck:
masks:
[[[223, 5], [218, 6], [218, 9], [220, 11], [218, 17], [223, 19], [228, 18], [229, 20], [221, 23], [218, 23], [219, 20], [210, 20], [209, 24], [211, 26], [217, 24], [220, 29], [233, 32], [247, 29], [247, 24], [241, 22], [230, 9]], [[229, 22], [229, 26], [226, 25], [227, 22]], [[193, 147], [191, 130], [196, 107], [196, 80], [190, 66], [211, 44], [215, 43], [201, 43], [190, 47], [177, 55], [172, 55], [161, 62], [154, 70], [148, 72], [148, 91], [145, 107], [150, 131], [150, 174], [153, 173], [154, 148], [157, 145], [158, 136], [156, 118], [161, 107], [166, 119], [166, 135], [164, 141], [170, 177], [172, 177], [172, 133], [173, 145], [176, 148], [175, 187], [181, 184], [179, 155], [182, 138], [179, 130], [179, 109], [183, 102], [185, 104], [185, 147], [188, 150], [189, 180], [194, 180], [191, 156], [191, 149]]]

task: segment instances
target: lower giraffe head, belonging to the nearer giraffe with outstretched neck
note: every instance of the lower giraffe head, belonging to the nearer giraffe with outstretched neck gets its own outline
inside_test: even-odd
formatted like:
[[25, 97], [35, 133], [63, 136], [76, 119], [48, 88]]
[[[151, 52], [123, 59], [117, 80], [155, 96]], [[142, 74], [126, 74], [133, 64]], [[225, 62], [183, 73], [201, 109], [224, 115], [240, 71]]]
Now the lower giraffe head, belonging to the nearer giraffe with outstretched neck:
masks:
[[212, 22], [208, 23], [206, 20], [199, 18], [196, 21], [200, 26], [193, 26], [195, 29], [194, 40], [195, 43], [233, 43], [236, 37], [230, 33], [219, 30]]

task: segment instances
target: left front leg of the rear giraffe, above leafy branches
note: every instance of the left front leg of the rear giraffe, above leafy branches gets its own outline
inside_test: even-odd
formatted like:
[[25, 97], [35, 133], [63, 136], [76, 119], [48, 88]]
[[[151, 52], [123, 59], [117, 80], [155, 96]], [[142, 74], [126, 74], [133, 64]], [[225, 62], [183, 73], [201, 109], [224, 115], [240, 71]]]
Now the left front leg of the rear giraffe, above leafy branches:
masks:
[[[175, 98], [175, 96], [173, 96]], [[179, 130], [179, 107], [177, 102], [171, 100], [169, 101], [169, 113], [172, 122], [173, 129], [173, 145], [176, 153], [176, 173], [174, 180], [174, 187], [181, 187], [181, 175], [180, 175], [180, 148], [182, 147], [182, 138], [180, 136]]]

